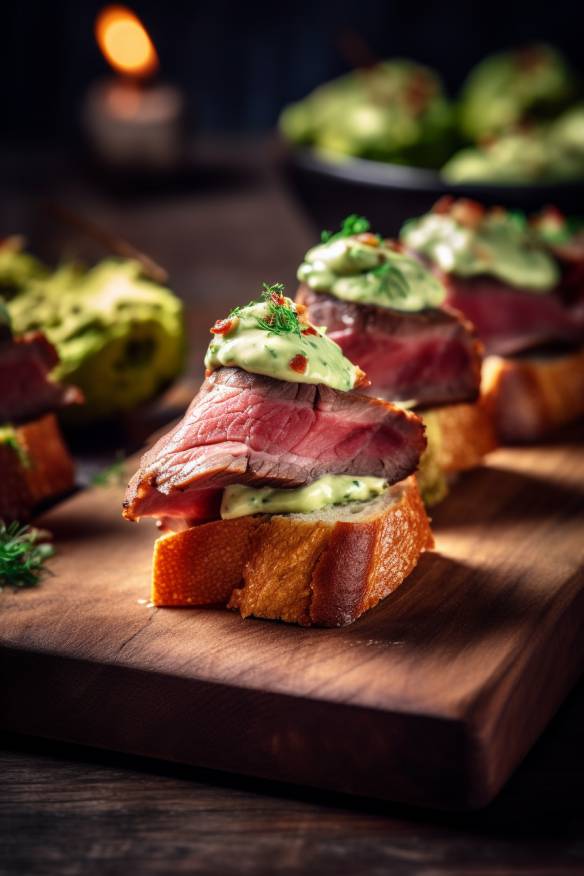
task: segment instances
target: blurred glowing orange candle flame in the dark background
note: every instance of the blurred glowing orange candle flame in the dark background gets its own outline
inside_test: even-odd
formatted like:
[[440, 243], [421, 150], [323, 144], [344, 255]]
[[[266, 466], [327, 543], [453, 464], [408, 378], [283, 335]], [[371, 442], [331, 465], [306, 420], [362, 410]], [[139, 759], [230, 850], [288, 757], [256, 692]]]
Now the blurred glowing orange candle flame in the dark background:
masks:
[[158, 69], [154, 43], [126, 6], [106, 6], [95, 20], [99, 48], [114, 70], [143, 78]]

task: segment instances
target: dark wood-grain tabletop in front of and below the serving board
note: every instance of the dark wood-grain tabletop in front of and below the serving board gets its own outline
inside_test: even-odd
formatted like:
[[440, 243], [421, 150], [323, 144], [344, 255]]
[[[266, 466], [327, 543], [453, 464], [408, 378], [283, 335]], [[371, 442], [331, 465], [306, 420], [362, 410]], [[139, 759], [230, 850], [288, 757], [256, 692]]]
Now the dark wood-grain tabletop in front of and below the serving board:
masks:
[[0, 734], [3, 876], [581, 876], [584, 684], [497, 799], [437, 813]]

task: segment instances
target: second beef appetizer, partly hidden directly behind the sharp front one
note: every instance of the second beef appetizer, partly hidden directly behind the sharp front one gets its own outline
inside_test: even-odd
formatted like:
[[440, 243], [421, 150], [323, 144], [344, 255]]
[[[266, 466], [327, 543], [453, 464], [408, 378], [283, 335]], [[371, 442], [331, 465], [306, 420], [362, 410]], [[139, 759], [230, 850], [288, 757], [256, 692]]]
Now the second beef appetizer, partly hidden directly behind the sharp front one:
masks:
[[495, 439], [477, 401], [481, 347], [473, 329], [443, 306], [436, 276], [401, 250], [372, 234], [363, 217], [349, 216], [306, 253], [297, 301], [363, 366], [367, 393], [421, 414], [429, 446], [419, 478], [434, 504], [446, 493], [446, 477], [478, 465]]

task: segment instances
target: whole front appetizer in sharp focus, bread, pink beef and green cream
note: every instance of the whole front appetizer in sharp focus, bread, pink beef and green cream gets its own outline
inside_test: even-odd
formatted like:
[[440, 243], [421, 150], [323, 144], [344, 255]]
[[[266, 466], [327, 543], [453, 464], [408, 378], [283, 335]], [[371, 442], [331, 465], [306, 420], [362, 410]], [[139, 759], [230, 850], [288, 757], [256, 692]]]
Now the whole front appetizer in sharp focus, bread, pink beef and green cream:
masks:
[[350, 623], [432, 545], [412, 477], [423, 424], [356, 392], [361, 369], [281, 284], [211, 332], [205, 382], [124, 502], [129, 520], [170, 530], [155, 545], [152, 601]]

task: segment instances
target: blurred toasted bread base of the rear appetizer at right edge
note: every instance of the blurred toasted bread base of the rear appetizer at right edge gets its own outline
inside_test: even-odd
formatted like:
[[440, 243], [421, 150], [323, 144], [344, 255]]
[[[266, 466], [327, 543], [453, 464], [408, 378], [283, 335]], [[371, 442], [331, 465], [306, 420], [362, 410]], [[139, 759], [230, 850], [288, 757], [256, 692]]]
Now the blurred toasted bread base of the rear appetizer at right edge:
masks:
[[537, 441], [584, 416], [584, 349], [517, 358], [488, 356], [483, 395], [501, 442]]

